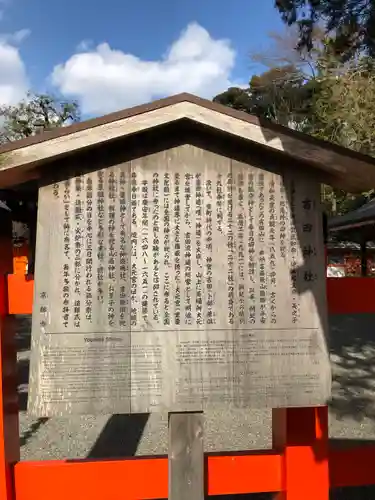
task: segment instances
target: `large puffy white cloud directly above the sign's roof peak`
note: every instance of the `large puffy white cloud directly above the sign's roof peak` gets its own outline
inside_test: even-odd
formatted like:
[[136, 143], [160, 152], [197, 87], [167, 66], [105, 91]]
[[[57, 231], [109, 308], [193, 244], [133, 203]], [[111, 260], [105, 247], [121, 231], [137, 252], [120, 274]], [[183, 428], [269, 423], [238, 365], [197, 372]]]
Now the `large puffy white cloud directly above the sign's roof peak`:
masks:
[[102, 43], [55, 66], [52, 82], [77, 98], [83, 113], [103, 114], [179, 92], [213, 97], [231, 85], [235, 55], [228, 40], [214, 39], [192, 23], [160, 60], [142, 60]]

